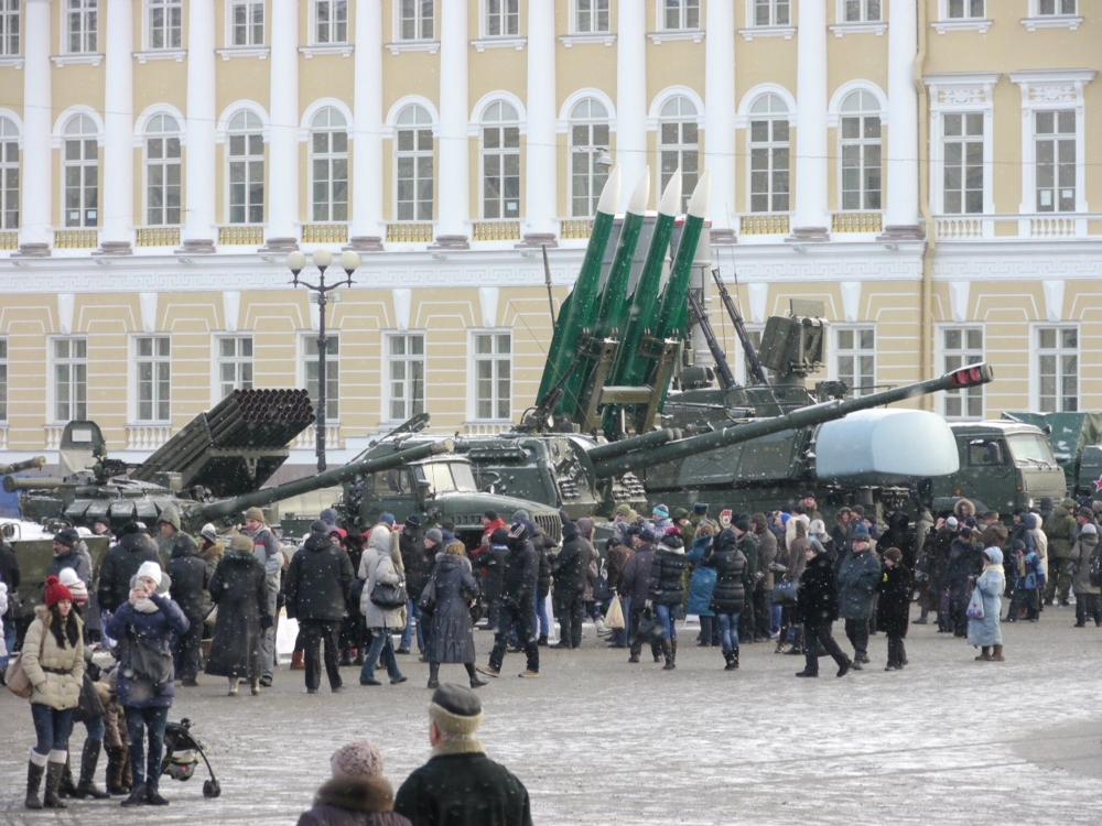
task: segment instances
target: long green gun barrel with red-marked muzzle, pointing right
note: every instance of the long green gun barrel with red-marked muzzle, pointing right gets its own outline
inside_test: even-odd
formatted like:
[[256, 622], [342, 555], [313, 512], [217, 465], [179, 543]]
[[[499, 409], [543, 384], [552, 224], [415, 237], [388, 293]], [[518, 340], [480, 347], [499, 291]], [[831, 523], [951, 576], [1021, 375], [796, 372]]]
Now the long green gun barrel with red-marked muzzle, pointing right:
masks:
[[731, 427], [724, 427], [722, 431], [712, 431], [699, 436], [690, 436], [689, 438], [670, 442], [657, 448], [629, 449], [627, 453], [611, 458], [605, 457], [594, 460], [593, 469], [597, 478], [605, 479], [647, 465], [694, 456], [706, 450], [749, 442], [750, 439], [782, 431], [813, 427], [823, 422], [842, 419], [858, 410], [878, 407], [882, 404], [890, 404], [904, 399], [934, 393], [939, 390], [960, 390], [986, 384], [992, 379], [994, 379], [994, 372], [990, 366], [970, 365], [937, 379], [927, 379], [914, 384], [904, 384], [899, 388], [884, 390], [879, 393], [871, 393], [857, 399], [833, 400], [823, 402], [822, 404], [813, 404], [808, 407], [793, 410], [791, 413], [786, 413], [785, 415], [735, 424]]

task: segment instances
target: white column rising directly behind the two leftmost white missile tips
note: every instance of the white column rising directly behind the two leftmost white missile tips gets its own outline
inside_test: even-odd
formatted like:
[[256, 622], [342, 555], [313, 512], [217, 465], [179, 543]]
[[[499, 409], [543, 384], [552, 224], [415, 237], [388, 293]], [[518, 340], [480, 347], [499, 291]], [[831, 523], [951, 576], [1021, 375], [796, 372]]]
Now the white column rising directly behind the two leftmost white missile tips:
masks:
[[647, 4], [619, 0], [617, 6], [614, 160], [620, 166], [620, 181], [633, 182], [647, 165]]

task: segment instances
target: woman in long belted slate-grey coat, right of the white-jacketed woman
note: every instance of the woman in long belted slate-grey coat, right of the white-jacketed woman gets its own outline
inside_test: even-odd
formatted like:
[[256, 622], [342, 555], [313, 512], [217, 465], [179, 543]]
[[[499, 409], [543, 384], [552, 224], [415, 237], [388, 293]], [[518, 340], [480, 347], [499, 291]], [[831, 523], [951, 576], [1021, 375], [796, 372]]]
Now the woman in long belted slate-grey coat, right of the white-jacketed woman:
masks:
[[436, 554], [436, 565], [429, 575], [436, 591], [429, 634], [429, 687], [440, 687], [440, 664], [463, 663], [471, 687], [486, 683], [475, 672], [475, 634], [471, 622], [471, 600], [478, 596], [478, 583], [471, 563], [463, 556], [463, 543], [452, 542]]

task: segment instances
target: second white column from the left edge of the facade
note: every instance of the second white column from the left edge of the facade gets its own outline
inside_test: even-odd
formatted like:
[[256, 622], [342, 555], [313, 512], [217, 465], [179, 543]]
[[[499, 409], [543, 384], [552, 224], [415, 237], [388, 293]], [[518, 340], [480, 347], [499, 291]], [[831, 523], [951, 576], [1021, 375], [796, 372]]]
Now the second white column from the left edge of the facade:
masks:
[[133, 3], [108, 0], [107, 57], [104, 67], [104, 217], [99, 249], [93, 254], [129, 256], [134, 224], [133, 187]]

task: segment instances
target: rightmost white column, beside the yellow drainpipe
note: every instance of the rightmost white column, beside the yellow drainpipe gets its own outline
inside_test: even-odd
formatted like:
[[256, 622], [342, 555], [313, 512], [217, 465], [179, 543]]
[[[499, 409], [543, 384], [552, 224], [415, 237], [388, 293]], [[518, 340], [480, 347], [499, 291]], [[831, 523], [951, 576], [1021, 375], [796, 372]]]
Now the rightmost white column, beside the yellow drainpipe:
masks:
[[921, 238], [918, 224], [918, 9], [915, 0], [888, 4], [887, 209], [884, 238]]

